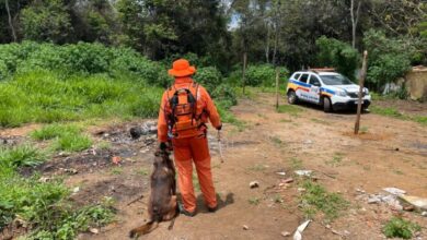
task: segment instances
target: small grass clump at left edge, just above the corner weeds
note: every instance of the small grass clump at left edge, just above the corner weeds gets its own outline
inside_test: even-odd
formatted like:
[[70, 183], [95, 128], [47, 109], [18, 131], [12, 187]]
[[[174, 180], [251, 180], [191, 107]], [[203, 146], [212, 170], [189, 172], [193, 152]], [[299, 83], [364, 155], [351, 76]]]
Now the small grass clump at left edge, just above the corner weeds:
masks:
[[0, 147], [0, 167], [2, 168], [36, 166], [45, 159], [46, 155], [31, 145]]

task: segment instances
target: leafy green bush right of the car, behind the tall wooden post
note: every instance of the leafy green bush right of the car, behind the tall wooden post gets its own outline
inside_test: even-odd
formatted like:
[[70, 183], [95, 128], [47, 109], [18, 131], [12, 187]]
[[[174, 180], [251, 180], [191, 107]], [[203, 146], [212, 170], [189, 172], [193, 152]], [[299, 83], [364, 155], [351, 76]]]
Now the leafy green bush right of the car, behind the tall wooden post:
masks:
[[367, 83], [380, 86], [393, 82], [411, 69], [416, 49], [405, 40], [388, 38], [383, 32], [368, 31], [363, 43], [369, 52]]

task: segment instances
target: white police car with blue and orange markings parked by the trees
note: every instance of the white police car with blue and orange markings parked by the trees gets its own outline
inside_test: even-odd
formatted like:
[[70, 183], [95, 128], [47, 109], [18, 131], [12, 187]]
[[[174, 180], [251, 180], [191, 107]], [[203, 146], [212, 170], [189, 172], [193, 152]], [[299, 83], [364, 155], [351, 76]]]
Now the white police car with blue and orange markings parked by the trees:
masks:
[[[289, 104], [308, 101], [323, 106], [325, 112], [354, 109], [358, 104], [359, 85], [332, 70], [308, 70], [293, 73], [288, 82]], [[368, 88], [363, 88], [362, 109], [371, 104]]]

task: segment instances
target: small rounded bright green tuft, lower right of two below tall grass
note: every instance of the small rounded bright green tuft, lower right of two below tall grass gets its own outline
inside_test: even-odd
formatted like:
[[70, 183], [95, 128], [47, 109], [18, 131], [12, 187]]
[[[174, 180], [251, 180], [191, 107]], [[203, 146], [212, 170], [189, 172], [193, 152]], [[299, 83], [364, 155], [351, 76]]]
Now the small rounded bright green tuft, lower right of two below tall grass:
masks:
[[80, 134], [66, 134], [57, 140], [54, 148], [56, 151], [80, 152], [88, 149], [92, 140]]

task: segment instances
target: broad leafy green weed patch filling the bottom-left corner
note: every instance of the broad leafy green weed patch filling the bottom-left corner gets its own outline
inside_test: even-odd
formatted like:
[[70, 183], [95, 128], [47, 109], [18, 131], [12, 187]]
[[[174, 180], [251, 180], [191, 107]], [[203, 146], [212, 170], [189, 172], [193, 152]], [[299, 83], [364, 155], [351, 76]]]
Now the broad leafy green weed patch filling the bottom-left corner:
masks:
[[[34, 148], [19, 152], [24, 154], [14, 154], [14, 161], [20, 163], [16, 167], [35, 159]], [[4, 156], [11, 155], [1, 152], [0, 163], [3, 163]], [[0, 230], [19, 218], [32, 231], [28, 239], [74, 239], [78, 231], [112, 220], [114, 212], [109, 201], [76, 207], [68, 201], [70, 192], [62, 182], [41, 182], [39, 176], [23, 178], [14, 168], [9, 165], [0, 167]]]

